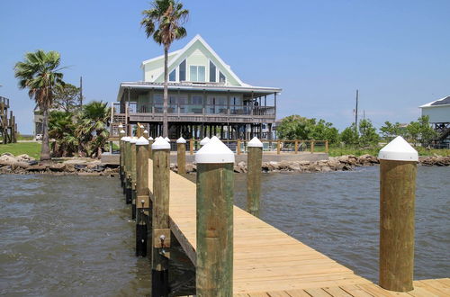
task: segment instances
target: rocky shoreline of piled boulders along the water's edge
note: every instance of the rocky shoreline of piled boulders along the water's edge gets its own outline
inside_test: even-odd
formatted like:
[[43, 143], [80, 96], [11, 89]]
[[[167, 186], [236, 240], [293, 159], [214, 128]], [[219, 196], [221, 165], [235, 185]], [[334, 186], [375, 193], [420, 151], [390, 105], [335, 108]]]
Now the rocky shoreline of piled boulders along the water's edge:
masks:
[[[263, 162], [262, 171], [269, 172], [330, 172], [330, 171], [349, 171], [358, 166], [374, 166], [379, 164], [377, 157], [363, 155], [360, 157], [347, 155], [341, 157], [329, 157], [328, 160], [321, 161], [281, 161], [281, 162]], [[419, 157], [421, 166], [450, 166], [449, 157]], [[170, 168], [177, 171], [176, 164], [171, 164]], [[195, 173], [195, 164], [186, 164], [187, 173]], [[247, 173], [246, 162], [239, 162], [234, 166], [236, 173]], [[106, 166], [100, 160], [90, 158], [67, 158], [56, 159], [48, 162], [38, 162], [28, 155], [14, 157], [12, 154], [4, 153], [0, 157], [0, 175], [106, 175], [114, 176], [119, 172], [118, 166]]]

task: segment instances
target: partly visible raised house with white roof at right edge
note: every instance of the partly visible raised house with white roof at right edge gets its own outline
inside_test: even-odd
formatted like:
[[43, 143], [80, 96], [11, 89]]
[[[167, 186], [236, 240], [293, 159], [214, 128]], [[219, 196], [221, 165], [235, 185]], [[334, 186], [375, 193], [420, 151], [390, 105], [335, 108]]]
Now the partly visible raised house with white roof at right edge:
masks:
[[439, 134], [437, 146], [450, 148], [450, 96], [419, 106]]

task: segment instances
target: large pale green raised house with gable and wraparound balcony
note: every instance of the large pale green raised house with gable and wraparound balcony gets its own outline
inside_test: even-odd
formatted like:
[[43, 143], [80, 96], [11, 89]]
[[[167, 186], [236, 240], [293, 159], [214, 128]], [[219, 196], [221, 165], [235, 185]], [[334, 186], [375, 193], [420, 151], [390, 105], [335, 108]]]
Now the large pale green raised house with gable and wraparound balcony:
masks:
[[[141, 68], [144, 81], [120, 85], [113, 136], [119, 123], [144, 124], [152, 137], [162, 133], [164, 56], [143, 61]], [[281, 89], [243, 83], [200, 35], [168, 54], [168, 73], [170, 139], [272, 135], [276, 95]]]

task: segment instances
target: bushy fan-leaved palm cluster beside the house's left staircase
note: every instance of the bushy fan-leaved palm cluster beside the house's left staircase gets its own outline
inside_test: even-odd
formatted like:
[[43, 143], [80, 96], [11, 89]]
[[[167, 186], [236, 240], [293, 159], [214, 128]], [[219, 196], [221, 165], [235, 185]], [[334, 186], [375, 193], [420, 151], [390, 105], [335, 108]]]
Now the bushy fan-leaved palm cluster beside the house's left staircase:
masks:
[[93, 101], [83, 106], [79, 115], [76, 136], [80, 139], [80, 154], [89, 157], [101, 157], [109, 136], [108, 125], [111, 120], [111, 108], [108, 103]]

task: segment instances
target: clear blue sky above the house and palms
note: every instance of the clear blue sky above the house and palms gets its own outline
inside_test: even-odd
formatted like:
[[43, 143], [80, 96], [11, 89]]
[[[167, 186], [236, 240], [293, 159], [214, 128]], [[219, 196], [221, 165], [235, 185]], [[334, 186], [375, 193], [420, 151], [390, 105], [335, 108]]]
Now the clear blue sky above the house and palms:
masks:
[[[413, 121], [418, 106], [450, 94], [450, 1], [184, 0], [188, 36], [197, 33], [251, 85], [283, 88], [278, 118], [297, 113], [380, 127]], [[34, 104], [17, 88], [26, 51], [58, 50], [65, 80], [83, 76], [89, 100], [115, 101], [122, 81], [142, 77], [142, 60], [162, 53], [139, 26], [148, 1], [9, 0], [0, 3], [0, 95], [19, 130], [32, 132]]]

